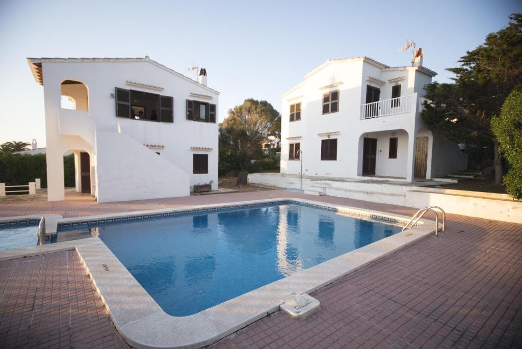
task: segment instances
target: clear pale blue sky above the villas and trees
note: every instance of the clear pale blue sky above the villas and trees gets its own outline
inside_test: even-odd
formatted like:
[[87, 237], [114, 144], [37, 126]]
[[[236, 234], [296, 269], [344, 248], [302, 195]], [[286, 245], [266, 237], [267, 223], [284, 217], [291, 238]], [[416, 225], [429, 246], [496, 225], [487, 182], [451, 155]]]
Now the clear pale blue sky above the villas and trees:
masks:
[[424, 65], [446, 67], [522, 12], [496, 1], [9, 1], [0, 0], [0, 143], [45, 146], [43, 90], [26, 57], [143, 57], [182, 74], [198, 64], [221, 92], [219, 120], [246, 98], [279, 96], [329, 58], [369, 56], [409, 65], [406, 39]]

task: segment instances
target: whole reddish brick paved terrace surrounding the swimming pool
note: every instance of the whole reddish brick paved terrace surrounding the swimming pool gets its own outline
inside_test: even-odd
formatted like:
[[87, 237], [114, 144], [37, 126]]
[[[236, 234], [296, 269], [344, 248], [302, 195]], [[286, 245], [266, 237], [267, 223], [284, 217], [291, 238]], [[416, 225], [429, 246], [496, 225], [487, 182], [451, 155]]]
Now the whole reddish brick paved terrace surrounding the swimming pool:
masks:
[[[0, 215], [78, 216], [274, 197], [411, 215], [416, 210], [271, 190], [97, 204], [0, 206]], [[45, 212], [44, 212], [45, 211]], [[426, 237], [312, 296], [304, 320], [278, 311], [212, 348], [522, 347], [522, 225], [449, 214]], [[0, 347], [124, 347], [76, 252], [0, 262]]]

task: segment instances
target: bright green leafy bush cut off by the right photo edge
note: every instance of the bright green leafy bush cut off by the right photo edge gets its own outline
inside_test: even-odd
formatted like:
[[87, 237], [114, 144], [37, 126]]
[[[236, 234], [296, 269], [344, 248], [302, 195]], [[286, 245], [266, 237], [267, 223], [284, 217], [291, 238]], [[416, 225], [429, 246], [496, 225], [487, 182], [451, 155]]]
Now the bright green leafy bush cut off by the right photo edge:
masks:
[[513, 198], [522, 199], [522, 90], [509, 94], [491, 126], [510, 167], [504, 176], [506, 190]]

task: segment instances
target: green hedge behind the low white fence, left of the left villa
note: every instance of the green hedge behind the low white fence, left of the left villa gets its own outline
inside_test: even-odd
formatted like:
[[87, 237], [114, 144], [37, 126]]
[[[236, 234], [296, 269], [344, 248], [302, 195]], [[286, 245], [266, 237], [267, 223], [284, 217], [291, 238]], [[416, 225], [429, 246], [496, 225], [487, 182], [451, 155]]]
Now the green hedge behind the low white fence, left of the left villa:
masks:
[[[64, 157], [64, 184], [74, 187], [74, 154]], [[11, 154], [0, 153], [0, 183], [6, 185], [27, 185], [41, 179], [42, 188], [47, 187], [47, 171], [45, 154]]]

